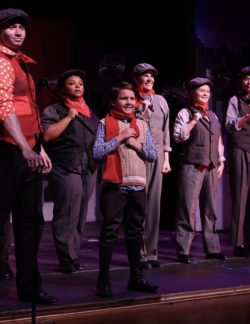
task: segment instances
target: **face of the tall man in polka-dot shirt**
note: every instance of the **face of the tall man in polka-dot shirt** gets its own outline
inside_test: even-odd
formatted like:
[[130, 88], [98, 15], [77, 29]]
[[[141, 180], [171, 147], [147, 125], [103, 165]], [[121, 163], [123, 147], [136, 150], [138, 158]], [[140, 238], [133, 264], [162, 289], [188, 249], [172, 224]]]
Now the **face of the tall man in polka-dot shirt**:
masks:
[[12, 23], [0, 29], [0, 42], [2, 45], [18, 50], [26, 37], [25, 26], [21, 23]]

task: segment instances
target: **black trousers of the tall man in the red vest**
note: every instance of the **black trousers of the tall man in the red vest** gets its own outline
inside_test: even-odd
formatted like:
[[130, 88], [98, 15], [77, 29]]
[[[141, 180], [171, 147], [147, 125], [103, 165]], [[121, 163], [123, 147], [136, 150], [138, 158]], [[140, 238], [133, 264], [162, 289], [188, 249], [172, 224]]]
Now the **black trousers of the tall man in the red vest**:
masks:
[[0, 217], [11, 211], [16, 257], [18, 295], [40, 289], [37, 251], [44, 219], [42, 214], [42, 179], [32, 172], [21, 151], [0, 142]]

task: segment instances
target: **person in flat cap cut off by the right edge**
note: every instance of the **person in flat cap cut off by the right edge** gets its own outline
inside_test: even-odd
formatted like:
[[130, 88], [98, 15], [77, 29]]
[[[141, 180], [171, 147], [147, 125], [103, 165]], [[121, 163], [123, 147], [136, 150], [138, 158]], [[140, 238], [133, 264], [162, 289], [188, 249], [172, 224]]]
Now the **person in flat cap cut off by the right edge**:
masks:
[[235, 256], [250, 256], [250, 66], [238, 74], [238, 89], [230, 98], [226, 115], [230, 138], [232, 193], [231, 243]]

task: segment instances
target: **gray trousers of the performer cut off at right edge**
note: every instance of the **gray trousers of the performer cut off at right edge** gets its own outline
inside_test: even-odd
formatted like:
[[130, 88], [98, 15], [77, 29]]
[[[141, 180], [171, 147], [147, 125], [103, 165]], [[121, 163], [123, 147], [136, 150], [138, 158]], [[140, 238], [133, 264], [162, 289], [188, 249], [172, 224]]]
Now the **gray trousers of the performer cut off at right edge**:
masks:
[[250, 245], [250, 153], [234, 148], [230, 163], [234, 246]]

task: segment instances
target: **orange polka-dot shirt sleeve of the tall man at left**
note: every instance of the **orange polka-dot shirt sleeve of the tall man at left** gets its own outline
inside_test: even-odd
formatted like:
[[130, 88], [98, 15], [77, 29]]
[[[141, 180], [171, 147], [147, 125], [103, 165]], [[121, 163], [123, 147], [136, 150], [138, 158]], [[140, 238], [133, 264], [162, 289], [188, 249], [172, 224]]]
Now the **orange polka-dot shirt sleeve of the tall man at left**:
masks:
[[13, 84], [15, 81], [12, 65], [0, 57], [0, 121], [15, 113]]

